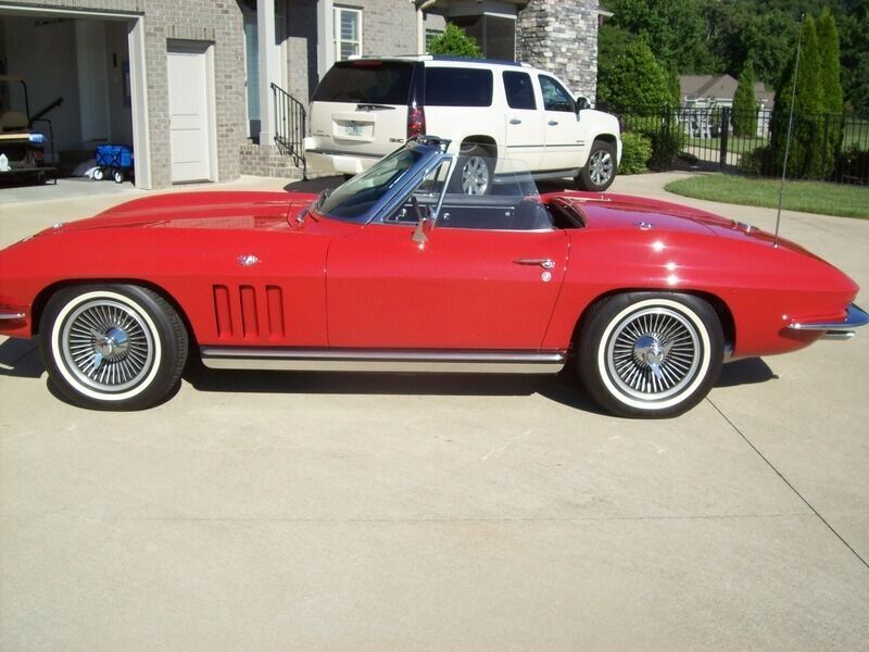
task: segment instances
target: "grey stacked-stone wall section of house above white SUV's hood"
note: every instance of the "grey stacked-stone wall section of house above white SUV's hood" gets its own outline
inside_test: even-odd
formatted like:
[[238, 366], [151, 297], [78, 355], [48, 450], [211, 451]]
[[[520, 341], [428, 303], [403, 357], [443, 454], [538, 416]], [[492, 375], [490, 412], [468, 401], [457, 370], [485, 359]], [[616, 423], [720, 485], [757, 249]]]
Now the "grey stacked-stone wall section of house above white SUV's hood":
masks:
[[597, 9], [597, 0], [531, 0], [516, 22], [517, 61], [553, 73], [593, 102]]

